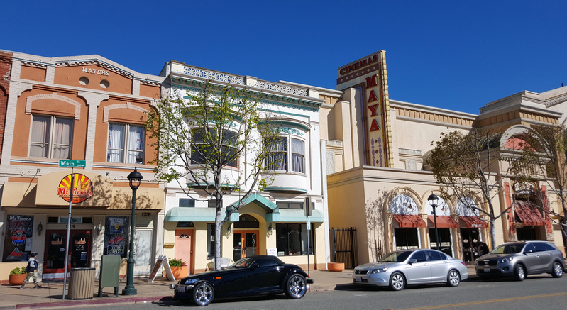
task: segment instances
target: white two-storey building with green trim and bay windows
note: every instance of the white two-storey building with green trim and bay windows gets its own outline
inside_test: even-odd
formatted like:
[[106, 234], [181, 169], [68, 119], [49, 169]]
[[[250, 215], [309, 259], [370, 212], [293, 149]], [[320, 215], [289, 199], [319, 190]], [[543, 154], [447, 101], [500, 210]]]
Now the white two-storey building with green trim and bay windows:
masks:
[[[236, 261], [271, 253], [306, 270], [308, 263], [312, 269], [325, 269], [329, 243], [319, 138], [319, 106], [323, 101], [316, 91], [299, 84], [268, 82], [173, 61], [167, 62], [162, 74], [167, 77], [164, 88], [172, 96], [196, 94], [207, 80], [217, 87], [246, 87], [261, 94], [260, 109], [270, 111], [282, 124], [280, 136], [285, 142], [278, 150], [285, 153], [285, 161], [275, 173], [265, 172], [273, 182], [261, 192], [254, 189], [246, 205], [224, 224], [221, 256]], [[238, 161], [240, 165], [227, 166], [223, 171], [233, 183], [238, 176], [246, 179], [250, 171], [244, 164], [246, 158]], [[242, 188], [250, 187], [250, 183], [244, 183]], [[211, 269], [216, 201], [197, 189], [187, 195], [177, 182], [167, 184], [165, 191], [164, 254], [186, 261], [191, 273]], [[240, 199], [238, 191], [224, 194], [224, 210]], [[309, 223], [306, 207], [312, 209]]]

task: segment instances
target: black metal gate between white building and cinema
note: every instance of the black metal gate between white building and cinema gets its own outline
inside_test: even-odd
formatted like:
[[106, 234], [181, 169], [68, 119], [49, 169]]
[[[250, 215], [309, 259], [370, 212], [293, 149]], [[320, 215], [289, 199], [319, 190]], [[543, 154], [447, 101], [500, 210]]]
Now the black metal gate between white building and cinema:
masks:
[[344, 262], [345, 268], [353, 269], [358, 265], [356, 254], [356, 228], [331, 228], [333, 261]]

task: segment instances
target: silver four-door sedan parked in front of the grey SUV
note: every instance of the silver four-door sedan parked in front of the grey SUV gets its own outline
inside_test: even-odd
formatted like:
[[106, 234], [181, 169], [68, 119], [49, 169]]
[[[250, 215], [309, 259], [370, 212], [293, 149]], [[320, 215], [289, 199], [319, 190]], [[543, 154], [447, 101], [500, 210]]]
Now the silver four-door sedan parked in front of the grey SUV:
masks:
[[465, 262], [451, 258], [438, 250], [397, 250], [387, 253], [378, 262], [354, 268], [353, 284], [389, 286], [395, 291], [406, 284], [446, 283], [456, 287], [468, 278]]

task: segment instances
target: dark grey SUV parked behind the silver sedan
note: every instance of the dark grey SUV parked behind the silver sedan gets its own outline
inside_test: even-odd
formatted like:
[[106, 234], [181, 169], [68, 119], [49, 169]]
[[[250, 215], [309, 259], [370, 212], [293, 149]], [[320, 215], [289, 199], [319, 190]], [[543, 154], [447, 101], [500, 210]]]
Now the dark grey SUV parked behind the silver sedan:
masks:
[[563, 253], [547, 241], [507, 242], [476, 260], [480, 279], [514, 277], [522, 281], [539, 273], [561, 277], [564, 269]]

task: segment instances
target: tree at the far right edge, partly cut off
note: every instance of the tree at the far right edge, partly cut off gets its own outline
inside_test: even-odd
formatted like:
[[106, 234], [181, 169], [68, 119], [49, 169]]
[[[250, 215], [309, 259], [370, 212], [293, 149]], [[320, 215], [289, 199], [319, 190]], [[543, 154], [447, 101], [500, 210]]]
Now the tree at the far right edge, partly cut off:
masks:
[[[522, 155], [517, 160], [517, 175], [529, 182], [534, 178], [545, 182], [549, 192], [556, 195], [559, 209], [546, 205], [547, 197], [541, 196], [541, 208], [551, 221], [559, 223], [563, 235], [563, 247], [567, 249], [567, 128], [557, 125], [532, 125], [519, 143]], [[541, 191], [537, 191], [542, 194]], [[558, 219], [558, 220], [557, 220]]]

